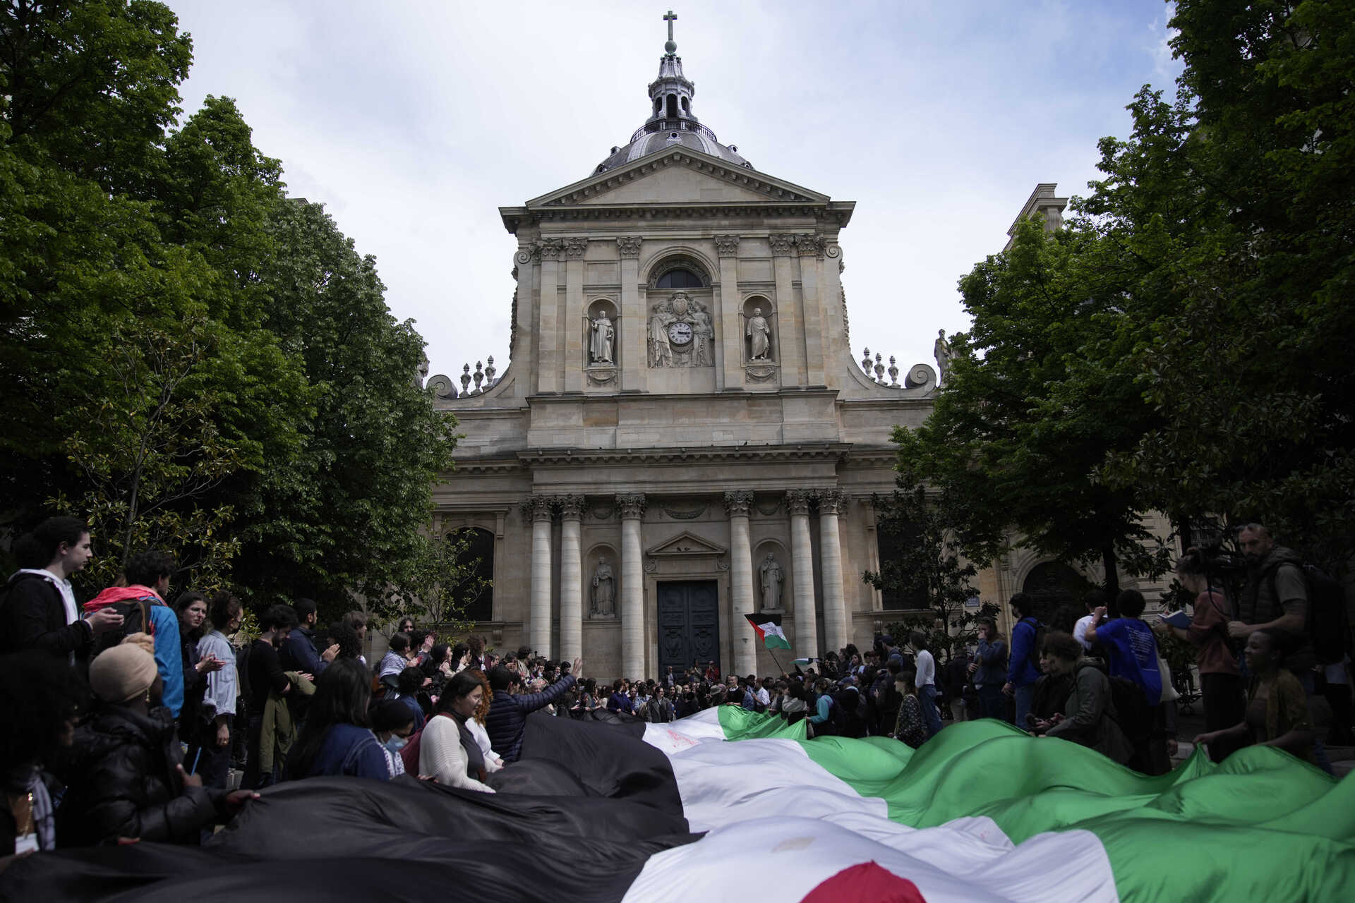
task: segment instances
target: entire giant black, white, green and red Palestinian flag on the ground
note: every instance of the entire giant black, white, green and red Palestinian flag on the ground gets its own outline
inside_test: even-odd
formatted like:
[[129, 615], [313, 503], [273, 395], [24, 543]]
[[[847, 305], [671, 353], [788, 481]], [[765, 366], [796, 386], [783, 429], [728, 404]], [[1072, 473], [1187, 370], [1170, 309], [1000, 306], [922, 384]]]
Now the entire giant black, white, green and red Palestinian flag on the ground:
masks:
[[1355, 783], [1279, 750], [1144, 777], [965, 722], [911, 750], [724, 705], [534, 715], [499, 793], [413, 778], [264, 791], [206, 847], [38, 853], [14, 900], [1344, 900]]

